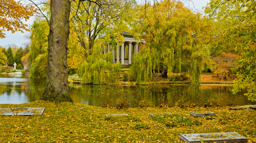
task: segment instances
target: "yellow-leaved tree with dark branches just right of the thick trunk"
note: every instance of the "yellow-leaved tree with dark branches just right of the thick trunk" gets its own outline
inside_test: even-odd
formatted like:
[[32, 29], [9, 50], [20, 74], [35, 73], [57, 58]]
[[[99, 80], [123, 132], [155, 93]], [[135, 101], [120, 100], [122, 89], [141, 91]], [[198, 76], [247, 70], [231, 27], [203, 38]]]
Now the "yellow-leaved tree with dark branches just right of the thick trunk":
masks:
[[99, 35], [109, 34], [108, 31], [120, 26], [119, 23], [130, 15], [133, 4], [132, 0], [75, 0], [71, 3], [71, 31], [86, 50], [86, 56], [92, 54], [88, 50], [93, 48]]

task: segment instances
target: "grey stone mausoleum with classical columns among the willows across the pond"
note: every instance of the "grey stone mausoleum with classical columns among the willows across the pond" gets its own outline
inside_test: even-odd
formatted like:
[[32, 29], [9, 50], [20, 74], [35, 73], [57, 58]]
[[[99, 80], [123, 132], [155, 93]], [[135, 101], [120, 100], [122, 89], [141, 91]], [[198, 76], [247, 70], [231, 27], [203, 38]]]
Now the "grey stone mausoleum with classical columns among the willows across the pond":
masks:
[[111, 52], [112, 49], [113, 64], [120, 62], [122, 66], [128, 66], [132, 64], [132, 55], [139, 52], [140, 47], [145, 44], [145, 41], [134, 40], [133, 35], [129, 32], [121, 32], [119, 34], [124, 37], [122, 44], [116, 43], [117, 48], [111, 44], [102, 45], [102, 48], [104, 47], [103, 53]]

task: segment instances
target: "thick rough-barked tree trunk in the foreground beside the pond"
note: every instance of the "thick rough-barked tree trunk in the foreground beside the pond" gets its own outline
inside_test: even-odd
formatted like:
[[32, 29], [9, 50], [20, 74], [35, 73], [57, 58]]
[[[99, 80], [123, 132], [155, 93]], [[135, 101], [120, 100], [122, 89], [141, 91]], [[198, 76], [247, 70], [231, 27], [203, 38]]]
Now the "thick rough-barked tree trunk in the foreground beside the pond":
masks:
[[55, 103], [73, 102], [69, 95], [67, 46], [69, 36], [69, 0], [51, 0], [48, 37], [48, 71], [46, 87], [40, 100]]

